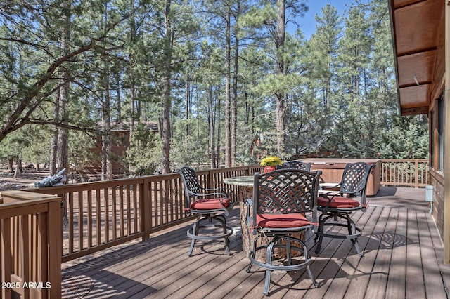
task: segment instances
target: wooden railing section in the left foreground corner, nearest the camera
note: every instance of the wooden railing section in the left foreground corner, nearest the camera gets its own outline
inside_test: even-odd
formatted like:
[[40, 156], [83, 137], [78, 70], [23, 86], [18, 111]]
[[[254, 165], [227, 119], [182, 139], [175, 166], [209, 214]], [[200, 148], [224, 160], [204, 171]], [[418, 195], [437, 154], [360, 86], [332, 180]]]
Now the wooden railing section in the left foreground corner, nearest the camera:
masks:
[[1, 195], [0, 298], [60, 298], [60, 198], [25, 191]]

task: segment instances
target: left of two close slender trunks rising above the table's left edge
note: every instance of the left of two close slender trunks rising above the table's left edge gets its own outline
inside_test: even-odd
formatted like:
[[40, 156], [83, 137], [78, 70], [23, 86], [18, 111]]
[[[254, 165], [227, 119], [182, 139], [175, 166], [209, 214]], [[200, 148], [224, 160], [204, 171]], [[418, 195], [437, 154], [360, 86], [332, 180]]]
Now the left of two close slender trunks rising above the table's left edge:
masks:
[[225, 167], [231, 167], [231, 104], [230, 104], [230, 73], [231, 73], [231, 8], [226, 11], [226, 50], [225, 50]]

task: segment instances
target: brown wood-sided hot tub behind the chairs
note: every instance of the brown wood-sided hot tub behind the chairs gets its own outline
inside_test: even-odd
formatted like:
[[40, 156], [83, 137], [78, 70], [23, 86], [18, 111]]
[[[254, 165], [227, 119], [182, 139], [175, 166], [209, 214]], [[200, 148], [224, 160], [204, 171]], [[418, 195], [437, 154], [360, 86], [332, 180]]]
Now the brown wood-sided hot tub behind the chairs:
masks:
[[309, 158], [300, 161], [311, 162], [311, 171], [322, 171], [321, 178], [325, 182], [338, 184], [344, 173], [345, 165], [354, 162], [366, 162], [375, 165], [368, 177], [366, 195], [373, 197], [377, 194], [381, 185], [381, 160], [380, 159], [338, 159], [338, 158]]

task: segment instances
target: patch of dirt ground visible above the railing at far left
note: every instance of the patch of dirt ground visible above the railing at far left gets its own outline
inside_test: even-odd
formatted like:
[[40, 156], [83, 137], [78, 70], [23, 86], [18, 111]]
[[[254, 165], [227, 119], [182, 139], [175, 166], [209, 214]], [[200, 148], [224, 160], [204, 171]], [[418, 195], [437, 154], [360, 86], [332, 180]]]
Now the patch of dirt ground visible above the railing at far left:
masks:
[[34, 182], [47, 177], [49, 171], [26, 171], [18, 173], [16, 178], [14, 173], [3, 171], [0, 172], [0, 191], [34, 188]]

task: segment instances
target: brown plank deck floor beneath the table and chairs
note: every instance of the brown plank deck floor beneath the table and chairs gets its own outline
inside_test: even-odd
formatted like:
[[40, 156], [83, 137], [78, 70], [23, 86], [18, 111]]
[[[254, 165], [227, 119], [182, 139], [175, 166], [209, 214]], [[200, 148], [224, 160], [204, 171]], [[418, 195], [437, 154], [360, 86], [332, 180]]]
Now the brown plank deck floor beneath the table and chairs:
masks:
[[[425, 202], [425, 190], [382, 187], [366, 213], [354, 215], [365, 256], [352, 242], [324, 239], [311, 251], [318, 288], [301, 272], [273, 272], [271, 298], [449, 298], [450, 267]], [[239, 211], [229, 218], [240, 227]], [[241, 240], [196, 246], [188, 258], [191, 222], [83, 263], [65, 265], [63, 298], [264, 298], [264, 271], [245, 272]], [[314, 246], [311, 234], [307, 244]]]

